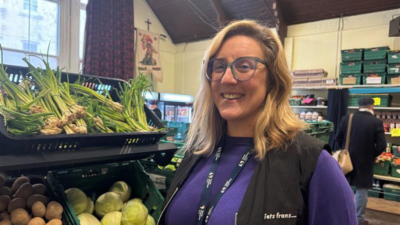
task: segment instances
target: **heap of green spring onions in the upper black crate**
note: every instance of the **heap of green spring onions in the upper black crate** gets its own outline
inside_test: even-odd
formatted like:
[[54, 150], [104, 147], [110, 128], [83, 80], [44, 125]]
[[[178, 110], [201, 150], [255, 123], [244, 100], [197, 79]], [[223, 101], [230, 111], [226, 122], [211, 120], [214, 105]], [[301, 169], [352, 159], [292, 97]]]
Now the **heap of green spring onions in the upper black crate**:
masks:
[[[1, 47], [1, 46], [0, 46]], [[48, 61], [40, 60], [45, 69], [34, 67], [26, 58], [29, 72], [16, 84], [9, 80], [0, 65], [0, 115], [7, 130], [15, 135], [110, 133], [159, 131], [147, 124], [144, 94], [150, 79], [140, 74], [119, 84], [119, 102], [75, 83], [61, 82], [59, 66], [53, 70]], [[69, 80], [69, 79], [68, 79]], [[83, 82], [83, 80], [82, 80]]]

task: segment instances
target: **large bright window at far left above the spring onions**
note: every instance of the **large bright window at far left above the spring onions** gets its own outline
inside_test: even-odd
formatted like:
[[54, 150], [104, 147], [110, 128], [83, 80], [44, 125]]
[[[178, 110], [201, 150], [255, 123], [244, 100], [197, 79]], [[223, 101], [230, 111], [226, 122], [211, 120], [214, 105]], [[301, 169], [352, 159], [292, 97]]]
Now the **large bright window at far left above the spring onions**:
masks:
[[42, 64], [40, 60], [27, 54], [40, 56], [40, 53], [46, 54], [48, 48], [50, 66], [56, 67], [59, 59], [59, 2], [55, 0], [20, 2], [23, 7], [13, 0], [2, 1], [1, 8], [5, 8], [7, 12], [2, 15], [0, 21], [4, 63], [26, 66], [21, 59], [27, 57], [31, 63], [38, 66]]

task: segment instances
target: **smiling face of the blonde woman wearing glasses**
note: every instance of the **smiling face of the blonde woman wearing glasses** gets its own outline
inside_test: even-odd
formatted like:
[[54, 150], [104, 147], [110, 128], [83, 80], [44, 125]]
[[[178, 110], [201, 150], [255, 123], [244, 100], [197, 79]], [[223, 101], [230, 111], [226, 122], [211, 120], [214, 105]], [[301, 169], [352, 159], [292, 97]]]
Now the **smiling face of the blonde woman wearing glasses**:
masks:
[[[235, 35], [222, 43], [214, 58], [232, 62], [244, 56], [264, 58], [256, 40]], [[212, 99], [222, 118], [227, 121], [254, 121], [266, 97], [267, 75], [266, 66], [258, 62], [255, 73], [249, 80], [236, 80], [232, 70], [227, 68], [220, 80], [211, 81]]]

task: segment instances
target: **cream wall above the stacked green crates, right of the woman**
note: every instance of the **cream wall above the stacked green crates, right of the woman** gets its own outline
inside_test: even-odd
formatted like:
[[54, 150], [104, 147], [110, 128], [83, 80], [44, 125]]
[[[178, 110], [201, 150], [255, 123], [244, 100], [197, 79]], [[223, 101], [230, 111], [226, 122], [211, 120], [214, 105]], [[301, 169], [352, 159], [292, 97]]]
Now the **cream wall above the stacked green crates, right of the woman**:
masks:
[[[291, 69], [323, 68], [338, 76], [340, 49], [389, 46], [400, 49], [400, 37], [388, 37], [389, 20], [400, 8], [287, 27], [284, 48]], [[341, 25], [340, 25], [341, 29]]]

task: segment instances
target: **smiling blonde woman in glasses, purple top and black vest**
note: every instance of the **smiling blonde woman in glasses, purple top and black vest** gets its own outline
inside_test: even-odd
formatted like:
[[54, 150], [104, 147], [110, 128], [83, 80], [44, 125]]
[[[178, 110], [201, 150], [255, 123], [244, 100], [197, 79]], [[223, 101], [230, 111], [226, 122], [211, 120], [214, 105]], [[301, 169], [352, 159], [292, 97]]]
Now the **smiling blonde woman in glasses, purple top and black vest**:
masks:
[[274, 31], [231, 22], [200, 74], [185, 157], [158, 224], [356, 224], [329, 146], [304, 134], [290, 109], [291, 76]]

